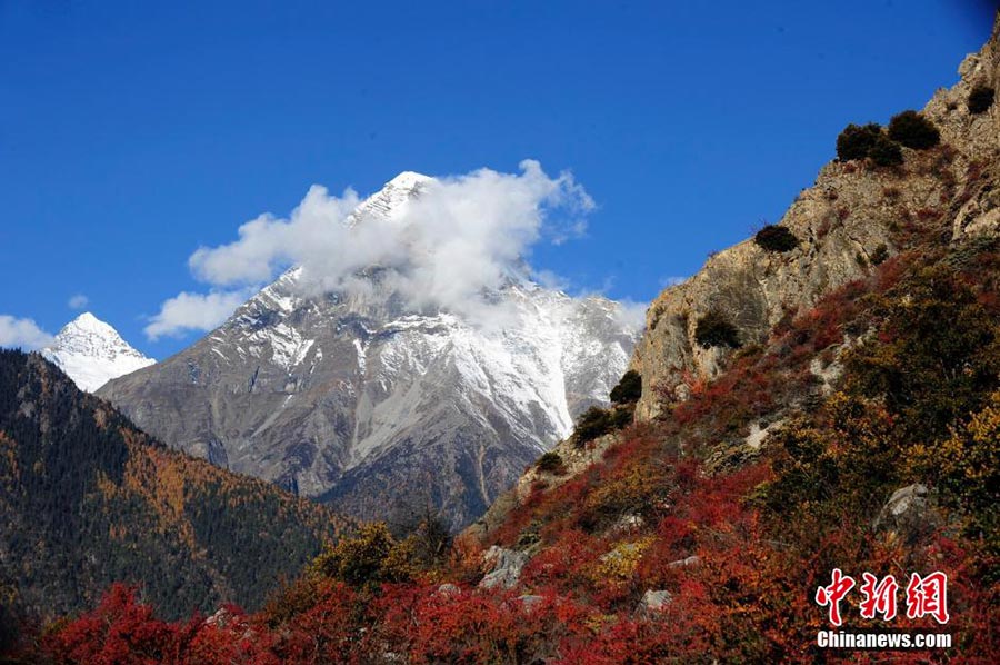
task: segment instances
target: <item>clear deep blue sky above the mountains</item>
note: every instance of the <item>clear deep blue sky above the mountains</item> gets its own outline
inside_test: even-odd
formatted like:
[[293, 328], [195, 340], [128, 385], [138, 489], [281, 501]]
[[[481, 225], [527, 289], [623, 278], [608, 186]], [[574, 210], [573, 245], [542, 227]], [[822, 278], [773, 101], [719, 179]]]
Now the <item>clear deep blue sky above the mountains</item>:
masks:
[[0, 315], [143, 328], [199, 246], [309, 187], [569, 169], [583, 237], [530, 257], [648, 301], [774, 221], [851, 121], [957, 79], [987, 2], [0, 0]]

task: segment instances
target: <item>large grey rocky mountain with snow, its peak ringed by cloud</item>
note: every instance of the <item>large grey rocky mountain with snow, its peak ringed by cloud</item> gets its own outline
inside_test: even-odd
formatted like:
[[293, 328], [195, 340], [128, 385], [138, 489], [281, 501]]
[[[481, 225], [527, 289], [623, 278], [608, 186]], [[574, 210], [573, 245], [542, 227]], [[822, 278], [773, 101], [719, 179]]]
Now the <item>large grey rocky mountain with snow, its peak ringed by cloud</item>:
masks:
[[[348, 225], [396, 224], [430, 179], [401, 173]], [[384, 518], [431, 503], [481, 514], [576, 415], [607, 403], [639, 330], [621, 307], [518, 269], [482, 294], [492, 320], [418, 309], [373, 266], [317, 291], [293, 268], [187, 350], [100, 394], [161, 440]]]

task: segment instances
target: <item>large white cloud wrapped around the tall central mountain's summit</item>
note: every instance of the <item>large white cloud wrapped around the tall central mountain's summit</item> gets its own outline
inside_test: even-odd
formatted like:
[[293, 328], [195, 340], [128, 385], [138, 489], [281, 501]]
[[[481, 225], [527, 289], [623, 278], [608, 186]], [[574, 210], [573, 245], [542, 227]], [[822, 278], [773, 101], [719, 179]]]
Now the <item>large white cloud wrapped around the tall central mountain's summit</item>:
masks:
[[[519, 166], [519, 173], [479, 169], [429, 180], [391, 219], [369, 217], [359, 224], [350, 217], [360, 202], [353, 190], [333, 196], [313, 186], [287, 219], [262, 215], [242, 225], [237, 240], [201, 247], [188, 264], [200, 280], [227, 289], [268, 281], [299, 265], [303, 284], [316, 291], [366, 288], [358, 272], [379, 266], [412, 307], [474, 314], [484, 307], [484, 289], [527, 272], [522, 257], [532, 245], [583, 234], [584, 218], [594, 208], [569, 172], [550, 177], [533, 160]], [[221, 321], [219, 312], [231, 311], [227, 295], [181, 294], [163, 305], [147, 335]], [[213, 316], [199, 325], [173, 325], [187, 317], [172, 311], [188, 309]]]

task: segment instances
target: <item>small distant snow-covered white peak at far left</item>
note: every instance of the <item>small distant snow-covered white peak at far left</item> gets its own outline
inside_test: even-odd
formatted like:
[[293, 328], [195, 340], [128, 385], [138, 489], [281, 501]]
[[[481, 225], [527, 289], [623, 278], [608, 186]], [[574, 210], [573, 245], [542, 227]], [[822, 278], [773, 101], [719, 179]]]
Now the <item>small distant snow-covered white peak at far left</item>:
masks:
[[41, 354], [88, 393], [110, 379], [156, 364], [129, 346], [118, 330], [89, 311], [67, 324]]

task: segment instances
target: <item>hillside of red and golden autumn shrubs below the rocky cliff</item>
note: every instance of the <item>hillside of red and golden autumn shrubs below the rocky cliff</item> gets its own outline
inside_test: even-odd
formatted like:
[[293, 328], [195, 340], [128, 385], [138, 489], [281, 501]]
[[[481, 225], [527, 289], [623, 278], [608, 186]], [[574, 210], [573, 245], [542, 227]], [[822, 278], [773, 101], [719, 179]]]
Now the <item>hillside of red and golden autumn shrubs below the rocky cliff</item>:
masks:
[[[828, 627], [812, 594], [840, 567], [948, 573], [954, 646], [941, 655], [987, 659], [1000, 648], [1000, 240], [949, 245], [939, 229], [908, 226], [898, 256], [733, 351], [658, 420], [611, 435], [582, 473], [534, 469], [501, 518], [442, 556], [372, 527], [261, 613], [166, 624], [116, 588], [42, 648], [69, 662], [113, 649], [203, 662], [812, 662]], [[760, 421], [772, 426], [758, 445], [748, 433]], [[880, 519], [914, 483], [932, 508], [911, 524]], [[510, 588], [478, 586], [494, 545], [526, 560]], [[648, 592], [667, 602], [643, 609]], [[883, 625], [853, 613], [852, 627]]]

